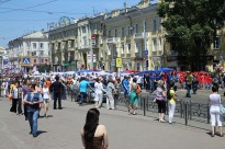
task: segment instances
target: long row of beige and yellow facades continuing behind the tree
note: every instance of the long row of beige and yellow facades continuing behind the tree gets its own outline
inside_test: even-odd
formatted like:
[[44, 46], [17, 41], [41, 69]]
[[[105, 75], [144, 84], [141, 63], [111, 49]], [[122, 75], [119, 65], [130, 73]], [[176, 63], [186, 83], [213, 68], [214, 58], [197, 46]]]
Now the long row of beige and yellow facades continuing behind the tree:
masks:
[[[179, 57], [166, 42], [166, 31], [161, 25], [164, 19], [158, 16], [157, 8], [158, 3], [140, 0], [137, 5], [124, 4], [123, 9], [75, 22], [61, 18], [59, 24], [48, 32], [53, 70], [142, 71], [161, 67], [185, 70], [184, 58]], [[215, 64], [224, 64], [224, 31], [217, 34], [209, 49], [209, 70]]]

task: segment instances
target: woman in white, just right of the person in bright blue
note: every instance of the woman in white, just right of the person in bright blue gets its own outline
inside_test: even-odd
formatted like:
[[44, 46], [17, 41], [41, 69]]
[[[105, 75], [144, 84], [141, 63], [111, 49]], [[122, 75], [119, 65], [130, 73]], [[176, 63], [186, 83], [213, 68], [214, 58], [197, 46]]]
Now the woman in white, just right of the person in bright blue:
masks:
[[103, 92], [106, 92], [103, 89], [102, 82], [99, 80], [99, 78], [95, 79], [95, 83], [94, 83], [94, 93], [95, 93], [95, 98], [94, 98], [94, 102], [95, 102], [95, 107], [101, 107], [102, 105], [102, 99], [103, 99]]

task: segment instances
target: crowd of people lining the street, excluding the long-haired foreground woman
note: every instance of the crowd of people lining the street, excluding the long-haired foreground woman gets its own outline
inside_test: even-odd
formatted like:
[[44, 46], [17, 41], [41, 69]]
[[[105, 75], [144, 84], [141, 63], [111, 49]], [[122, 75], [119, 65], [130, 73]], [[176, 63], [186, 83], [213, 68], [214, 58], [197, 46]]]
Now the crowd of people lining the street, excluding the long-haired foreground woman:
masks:
[[[40, 78], [29, 77], [27, 74], [20, 78], [2, 78], [4, 88], [4, 95], [12, 101], [10, 112], [18, 115], [24, 114], [25, 121], [30, 122], [31, 133], [36, 137], [37, 133], [37, 118], [40, 112], [44, 106], [44, 117], [48, 117], [49, 101], [54, 100], [53, 110], [63, 110], [61, 100], [67, 99], [67, 92], [70, 90], [79, 92], [79, 105], [83, 106], [85, 99], [88, 96], [87, 90], [90, 88], [94, 92], [94, 107], [101, 108], [103, 102], [103, 94], [106, 95], [106, 108], [115, 110], [115, 102], [122, 91], [124, 100], [127, 103], [127, 111], [132, 115], [136, 115], [136, 110], [139, 101], [142, 90], [149, 93], [155, 92], [156, 98], [154, 102], [158, 104], [158, 119], [165, 123], [166, 102], [168, 102], [169, 124], [173, 123], [173, 114], [176, 110], [176, 101], [178, 101], [176, 91], [177, 88], [187, 90], [187, 98], [191, 98], [191, 89], [193, 94], [201, 88], [202, 81], [199, 74], [193, 74], [190, 71], [185, 76], [176, 72], [160, 72], [160, 73], [144, 73], [144, 74], [130, 74], [130, 76], [99, 76], [98, 73], [76, 73], [70, 76], [42, 76]], [[94, 82], [93, 85], [90, 82]], [[225, 78], [222, 74], [212, 77], [211, 82], [204, 83], [205, 89], [212, 87], [213, 94], [223, 88]], [[76, 93], [77, 93], [76, 92]], [[218, 96], [218, 95], [217, 95]], [[221, 103], [220, 96], [210, 96], [211, 119], [212, 119], [212, 136], [214, 136], [215, 121], [220, 126], [221, 136], [222, 123], [217, 114], [217, 107]], [[22, 108], [23, 107], [23, 108]], [[95, 111], [95, 108], [93, 111]], [[93, 112], [92, 112], [93, 113]], [[95, 111], [98, 115], [98, 111]], [[220, 112], [218, 112], [220, 113]], [[214, 118], [213, 118], [214, 117]], [[92, 128], [98, 129], [99, 126]], [[86, 134], [86, 130], [82, 130]], [[93, 133], [92, 133], [93, 135]], [[99, 136], [98, 134], [94, 136]], [[83, 137], [83, 139], [89, 139]], [[106, 139], [106, 138], [105, 138]], [[106, 140], [105, 140], [106, 141]], [[105, 145], [108, 146], [108, 145]]]

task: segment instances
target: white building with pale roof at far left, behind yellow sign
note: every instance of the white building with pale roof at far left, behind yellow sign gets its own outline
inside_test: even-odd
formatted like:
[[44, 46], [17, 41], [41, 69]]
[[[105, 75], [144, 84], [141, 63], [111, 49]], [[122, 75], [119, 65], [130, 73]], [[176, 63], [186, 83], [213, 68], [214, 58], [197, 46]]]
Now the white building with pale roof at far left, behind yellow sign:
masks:
[[[23, 66], [21, 57], [31, 57], [31, 64]], [[34, 69], [49, 65], [48, 35], [45, 32], [32, 32], [9, 42], [9, 59], [11, 65], [20, 70]]]

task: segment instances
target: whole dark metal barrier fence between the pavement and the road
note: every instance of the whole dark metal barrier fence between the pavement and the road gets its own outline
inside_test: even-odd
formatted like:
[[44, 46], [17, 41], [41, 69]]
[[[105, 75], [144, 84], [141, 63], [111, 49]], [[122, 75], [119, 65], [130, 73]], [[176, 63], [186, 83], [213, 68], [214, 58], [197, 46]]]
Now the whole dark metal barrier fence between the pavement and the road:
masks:
[[[93, 96], [91, 96], [91, 92], [87, 92], [87, 99], [85, 100], [88, 104], [92, 103]], [[67, 95], [69, 95], [69, 99], [71, 102], [77, 102], [79, 92], [76, 92], [75, 90], [68, 90]], [[79, 99], [78, 99], [79, 100]], [[124, 96], [123, 92], [120, 92], [117, 96], [114, 96], [115, 100], [115, 107], [117, 110], [127, 111], [128, 106], [128, 96]], [[139, 111], [138, 114], [142, 114], [144, 116], [151, 116], [153, 114], [158, 113], [158, 105], [154, 102], [153, 96], [148, 95], [139, 95], [138, 96], [139, 104], [137, 106], [137, 110]], [[168, 102], [166, 104], [166, 115], [168, 115]], [[176, 111], [175, 111], [175, 117], [179, 117], [180, 119], [183, 119], [185, 125], [189, 125], [190, 122], [196, 122], [196, 123], [204, 123], [210, 124], [210, 104], [204, 103], [195, 103], [193, 101], [177, 101], [176, 102]], [[222, 117], [223, 122], [225, 121], [225, 116]]]

